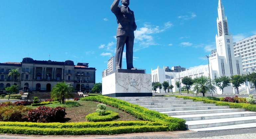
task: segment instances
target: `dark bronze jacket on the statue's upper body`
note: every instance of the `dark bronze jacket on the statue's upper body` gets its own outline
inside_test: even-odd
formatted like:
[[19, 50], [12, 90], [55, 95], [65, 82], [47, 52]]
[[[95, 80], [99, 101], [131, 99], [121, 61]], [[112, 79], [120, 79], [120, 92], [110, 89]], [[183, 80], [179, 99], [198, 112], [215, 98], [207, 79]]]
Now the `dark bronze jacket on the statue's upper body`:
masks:
[[129, 7], [118, 5], [120, 0], [115, 0], [111, 5], [111, 11], [115, 14], [118, 23], [116, 36], [133, 36], [137, 25], [134, 13]]

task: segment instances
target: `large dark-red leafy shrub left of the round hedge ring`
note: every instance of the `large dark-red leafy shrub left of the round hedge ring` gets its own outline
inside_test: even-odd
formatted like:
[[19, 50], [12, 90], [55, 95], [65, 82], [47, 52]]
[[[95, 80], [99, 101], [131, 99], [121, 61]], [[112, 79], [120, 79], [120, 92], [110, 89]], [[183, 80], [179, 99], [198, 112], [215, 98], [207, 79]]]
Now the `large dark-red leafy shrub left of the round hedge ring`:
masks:
[[28, 112], [28, 120], [31, 122], [57, 122], [61, 121], [65, 115], [65, 108], [40, 106]]

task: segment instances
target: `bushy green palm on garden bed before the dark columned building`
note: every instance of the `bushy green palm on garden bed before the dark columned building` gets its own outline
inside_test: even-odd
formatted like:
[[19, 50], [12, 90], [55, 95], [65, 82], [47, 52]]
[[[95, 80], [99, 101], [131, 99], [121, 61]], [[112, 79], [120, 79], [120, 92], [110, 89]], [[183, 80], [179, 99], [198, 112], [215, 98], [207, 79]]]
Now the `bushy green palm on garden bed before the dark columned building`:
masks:
[[54, 85], [51, 91], [51, 98], [60, 98], [60, 103], [65, 104], [65, 99], [73, 98], [73, 86], [70, 83], [61, 82]]

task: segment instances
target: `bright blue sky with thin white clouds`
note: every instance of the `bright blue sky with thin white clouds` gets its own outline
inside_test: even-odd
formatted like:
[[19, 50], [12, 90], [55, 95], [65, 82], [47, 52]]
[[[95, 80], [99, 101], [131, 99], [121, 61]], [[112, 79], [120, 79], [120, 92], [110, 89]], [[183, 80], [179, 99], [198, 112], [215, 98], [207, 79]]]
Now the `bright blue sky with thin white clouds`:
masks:
[[[106, 62], [115, 55], [112, 2], [0, 0], [0, 63], [25, 57], [89, 63], [101, 82]], [[222, 2], [234, 42], [256, 34], [255, 0]], [[216, 49], [217, 6], [218, 0], [130, 0], [138, 26], [134, 67], [150, 74], [157, 66], [206, 65], [201, 57]]]

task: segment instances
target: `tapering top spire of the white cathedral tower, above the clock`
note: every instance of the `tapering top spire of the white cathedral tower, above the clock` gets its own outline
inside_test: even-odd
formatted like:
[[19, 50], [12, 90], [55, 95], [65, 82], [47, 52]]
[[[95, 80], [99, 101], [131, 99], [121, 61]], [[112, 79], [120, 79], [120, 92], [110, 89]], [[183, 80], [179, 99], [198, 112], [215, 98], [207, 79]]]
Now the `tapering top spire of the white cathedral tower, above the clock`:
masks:
[[217, 25], [218, 25], [218, 36], [229, 35], [227, 17], [225, 17], [224, 7], [222, 5], [221, 0], [219, 0], [219, 4], [218, 4]]

